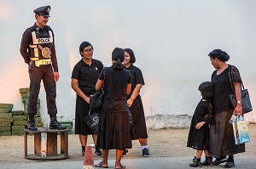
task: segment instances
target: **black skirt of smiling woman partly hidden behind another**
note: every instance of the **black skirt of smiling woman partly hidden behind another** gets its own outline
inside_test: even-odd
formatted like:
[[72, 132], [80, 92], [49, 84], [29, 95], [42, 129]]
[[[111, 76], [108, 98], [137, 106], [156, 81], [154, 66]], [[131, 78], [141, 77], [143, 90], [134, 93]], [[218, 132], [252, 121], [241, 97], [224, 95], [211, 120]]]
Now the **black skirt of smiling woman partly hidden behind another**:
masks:
[[148, 138], [143, 102], [140, 95], [137, 95], [137, 98], [133, 101], [130, 110], [132, 115], [132, 123], [134, 126], [132, 139]]

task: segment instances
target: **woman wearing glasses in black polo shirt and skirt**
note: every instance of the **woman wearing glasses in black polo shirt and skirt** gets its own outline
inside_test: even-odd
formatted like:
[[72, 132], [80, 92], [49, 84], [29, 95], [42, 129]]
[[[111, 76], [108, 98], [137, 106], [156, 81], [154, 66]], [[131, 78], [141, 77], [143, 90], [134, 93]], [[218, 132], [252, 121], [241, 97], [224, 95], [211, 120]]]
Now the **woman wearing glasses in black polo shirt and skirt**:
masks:
[[[87, 136], [92, 135], [96, 144], [96, 133], [92, 132], [84, 122], [84, 117], [88, 115], [90, 107], [90, 95], [96, 93], [95, 85], [98, 76], [103, 68], [102, 62], [92, 59], [93, 47], [90, 42], [82, 42], [79, 53], [83, 57], [73, 68], [71, 86], [77, 93], [75, 111], [75, 134], [79, 134], [82, 146], [82, 155], [87, 144]], [[102, 151], [96, 146], [95, 154], [102, 156]]]

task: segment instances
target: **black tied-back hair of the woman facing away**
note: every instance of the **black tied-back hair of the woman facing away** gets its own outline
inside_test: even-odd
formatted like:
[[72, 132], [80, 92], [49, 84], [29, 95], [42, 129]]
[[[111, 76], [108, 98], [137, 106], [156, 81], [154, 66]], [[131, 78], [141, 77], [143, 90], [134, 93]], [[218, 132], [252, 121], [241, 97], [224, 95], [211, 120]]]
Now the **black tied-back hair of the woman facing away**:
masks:
[[123, 70], [122, 62], [125, 60], [125, 51], [123, 48], [114, 48], [112, 52], [112, 60], [115, 61], [113, 69]]

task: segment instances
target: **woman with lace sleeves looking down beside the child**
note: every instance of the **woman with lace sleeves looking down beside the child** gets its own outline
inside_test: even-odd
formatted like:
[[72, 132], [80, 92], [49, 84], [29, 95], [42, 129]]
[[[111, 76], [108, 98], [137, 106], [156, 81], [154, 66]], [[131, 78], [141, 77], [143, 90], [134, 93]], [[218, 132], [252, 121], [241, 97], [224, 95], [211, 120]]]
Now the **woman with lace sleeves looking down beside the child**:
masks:
[[[229, 155], [224, 167], [231, 168], [235, 166], [234, 155], [245, 152], [245, 144], [235, 144], [233, 128], [230, 124], [230, 118], [233, 113], [236, 115], [242, 114], [241, 76], [235, 66], [226, 63], [230, 56], [221, 49], [213, 50], [208, 56], [216, 69], [212, 73], [211, 80], [214, 91], [213, 110], [215, 124], [210, 127], [209, 152], [210, 155], [216, 158], [215, 165], [220, 164], [222, 162], [221, 159]], [[230, 94], [232, 93], [230, 78], [237, 100], [235, 110], [230, 102]]]

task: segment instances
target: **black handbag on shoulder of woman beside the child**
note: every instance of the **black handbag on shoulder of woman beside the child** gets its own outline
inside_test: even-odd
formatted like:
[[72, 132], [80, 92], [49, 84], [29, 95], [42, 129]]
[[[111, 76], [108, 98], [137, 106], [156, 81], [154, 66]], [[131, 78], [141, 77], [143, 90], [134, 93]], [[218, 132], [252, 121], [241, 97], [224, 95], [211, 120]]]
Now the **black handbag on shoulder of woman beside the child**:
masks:
[[[230, 68], [229, 68], [229, 77], [230, 77]], [[230, 85], [233, 91], [233, 94], [230, 94], [230, 101], [234, 109], [236, 109], [236, 105], [237, 105], [236, 95], [235, 95], [233, 84], [231, 82], [231, 78], [230, 78]], [[244, 88], [242, 81], [241, 81], [241, 108], [242, 108], [242, 114], [246, 114], [253, 110], [253, 106], [251, 104], [251, 99], [250, 99], [248, 90]]]

